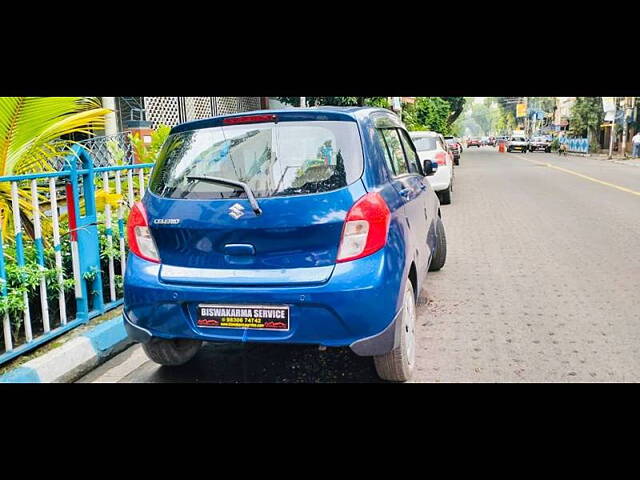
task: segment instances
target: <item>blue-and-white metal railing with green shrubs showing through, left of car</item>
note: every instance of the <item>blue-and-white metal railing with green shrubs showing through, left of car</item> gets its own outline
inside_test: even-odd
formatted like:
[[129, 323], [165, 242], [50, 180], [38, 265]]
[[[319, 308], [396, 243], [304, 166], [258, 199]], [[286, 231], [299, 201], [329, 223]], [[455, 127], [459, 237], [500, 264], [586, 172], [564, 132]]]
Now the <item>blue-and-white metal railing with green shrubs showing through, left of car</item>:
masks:
[[0, 364], [122, 303], [125, 222], [152, 166], [95, 168], [76, 145], [62, 171], [0, 177], [13, 210], [0, 221]]

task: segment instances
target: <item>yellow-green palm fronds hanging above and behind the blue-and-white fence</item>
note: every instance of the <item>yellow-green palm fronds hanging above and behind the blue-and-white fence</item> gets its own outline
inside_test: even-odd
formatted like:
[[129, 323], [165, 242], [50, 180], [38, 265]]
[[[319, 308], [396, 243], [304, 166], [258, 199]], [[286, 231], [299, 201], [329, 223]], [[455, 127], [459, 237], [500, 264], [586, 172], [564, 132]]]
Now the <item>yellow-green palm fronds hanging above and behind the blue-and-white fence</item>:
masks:
[[[53, 159], [69, 151], [71, 133], [93, 135], [111, 110], [97, 97], [0, 97], [0, 177], [52, 171]], [[29, 185], [18, 190], [20, 216], [32, 234]], [[0, 182], [2, 229], [12, 223], [11, 182]], [[46, 220], [43, 218], [43, 220]]]

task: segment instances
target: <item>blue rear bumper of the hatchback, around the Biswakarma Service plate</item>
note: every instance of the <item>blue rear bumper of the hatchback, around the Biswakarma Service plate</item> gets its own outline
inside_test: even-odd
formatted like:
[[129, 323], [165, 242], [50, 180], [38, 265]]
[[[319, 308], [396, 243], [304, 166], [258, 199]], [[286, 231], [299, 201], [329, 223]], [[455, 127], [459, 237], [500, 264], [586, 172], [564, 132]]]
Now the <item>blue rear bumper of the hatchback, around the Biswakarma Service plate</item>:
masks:
[[[400, 258], [402, 257], [402, 258]], [[350, 346], [358, 355], [381, 355], [394, 346], [399, 294], [404, 289], [404, 256], [385, 247], [353, 262], [336, 264], [322, 285], [287, 287], [168, 284], [160, 265], [129, 255], [124, 317], [129, 337], [193, 338], [211, 342], [303, 343]], [[266, 331], [203, 328], [199, 303], [289, 305], [290, 329]]]

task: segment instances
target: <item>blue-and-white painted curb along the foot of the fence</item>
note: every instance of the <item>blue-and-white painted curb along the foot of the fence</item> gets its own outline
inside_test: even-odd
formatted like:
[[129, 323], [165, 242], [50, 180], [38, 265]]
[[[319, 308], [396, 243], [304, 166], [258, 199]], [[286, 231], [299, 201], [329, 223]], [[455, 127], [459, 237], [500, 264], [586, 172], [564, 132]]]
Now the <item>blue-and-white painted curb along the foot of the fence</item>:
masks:
[[0, 383], [69, 383], [132, 343], [120, 315], [0, 376]]

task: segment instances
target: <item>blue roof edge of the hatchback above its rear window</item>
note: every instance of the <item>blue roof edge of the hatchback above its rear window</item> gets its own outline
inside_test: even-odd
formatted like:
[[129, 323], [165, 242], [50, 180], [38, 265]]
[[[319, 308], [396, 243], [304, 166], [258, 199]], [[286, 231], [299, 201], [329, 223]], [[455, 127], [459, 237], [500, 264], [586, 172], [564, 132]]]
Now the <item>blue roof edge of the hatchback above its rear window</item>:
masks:
[[[378, 113], [379, 112], [379, 113]], [[250, 115], [276, 115], [282, 121], [305, 121], [305, 120], [337, 120], [359, 122], [365, 118], [378, 113], [378, 117], [383, 116], [401, 125], [398, 116], [386, 108], [378, 107], [308, 107], [308, 108], [286, 108], [275, 110], [252, 110], [249, 112], [233, 113], [229, 115], [218, 115], [216, 117], [205, 118], [182, 123], [171, 129], [171, 133], [199, 130], [202, 128], [219, 127], [224, 123], [224, 119], [233, 117], [244, 117]]]

